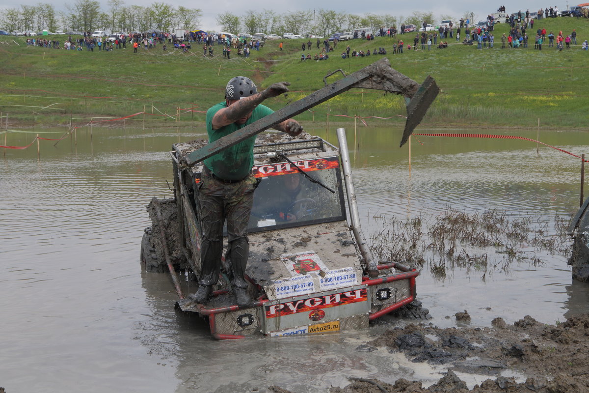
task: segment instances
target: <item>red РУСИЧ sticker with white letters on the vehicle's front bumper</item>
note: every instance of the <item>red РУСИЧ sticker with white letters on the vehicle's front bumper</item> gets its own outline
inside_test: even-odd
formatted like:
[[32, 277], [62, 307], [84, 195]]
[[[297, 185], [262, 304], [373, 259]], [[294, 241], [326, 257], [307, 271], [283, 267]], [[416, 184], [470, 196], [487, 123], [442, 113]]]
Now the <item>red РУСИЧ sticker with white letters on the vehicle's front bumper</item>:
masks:
[[264, 312], [266, 313], [266, 318], [276, 318], [299, 312], [311, 312], [317, 309], [348, 305], [356, 302], [365, 302], [367, 299], [368, 292], [366, 288], [360, 288], [346, 292], [332, 293], [331, 295], [317, 296], [316, 298], [264, 305]]

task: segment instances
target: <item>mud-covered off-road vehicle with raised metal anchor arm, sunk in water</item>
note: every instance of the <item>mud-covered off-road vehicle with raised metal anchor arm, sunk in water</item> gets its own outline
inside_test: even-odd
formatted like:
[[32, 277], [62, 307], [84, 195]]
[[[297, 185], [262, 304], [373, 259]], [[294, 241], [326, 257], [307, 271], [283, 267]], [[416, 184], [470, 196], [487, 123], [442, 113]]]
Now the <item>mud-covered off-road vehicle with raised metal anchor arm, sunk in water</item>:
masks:
[[[293, 111], [283, 108], [224, 141], [173, 145], [174, 199], [154, 198], [148, 206], [153, 226], [145, 230], [141, 261], [150, 272], [170, 273], [179, 297], [177, 308], [207, 318], [215, 338], [366, 328], [373, 319], [415, 300], [418, 271], [399, 262], [376, 261], [369, 250], [360, 228], [345, 130], [337, 130], [339, 147], [308, 134], [297, 138], [259, 134], [282, 121], [280, 118], [300, 113], [329, 95], [368, 85], [407, 98], [403, 143], [439, 89], [431, 78], [420, 87], [392, 70], [388, 62], [375, 65], [380, 68], [366, 67], [317, 91], [316, 97], [312, 94], [301, 100], [312, 104], [291, 104]], [[380, 75], [385, 75], [381, 81]], [[320, 96], [322, 92], [325, 96]], [[227, 277], [230, 269], [221, 260], [217, 288], [203, 305], [185, 296], [196, 289], [201, 266], [198, 184], [202, 160], [216, 148], [247, 137], [248, 132], [259, 134], [252, 168], [259, 184], [249, 219], [246, 269], [255, 300], [252, 306], [236, 304]], [[426, 313], [423, 310], [418, 315]]]

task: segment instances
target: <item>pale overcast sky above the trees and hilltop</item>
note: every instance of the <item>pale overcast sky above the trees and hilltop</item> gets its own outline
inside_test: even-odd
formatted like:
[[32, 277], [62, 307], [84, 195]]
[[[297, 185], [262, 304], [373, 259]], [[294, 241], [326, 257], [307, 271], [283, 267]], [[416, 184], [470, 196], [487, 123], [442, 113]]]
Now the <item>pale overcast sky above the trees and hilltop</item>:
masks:
[[[75, 0], [67, 0], [65, 3], [63, 1], [58, 2], [54, 0], [22, 0], [15, 4], [10, 0], [0, 0], [0, 8], [13, 8], [21, 4], [37, 5], [39, 3], [49, 3], [53, 4], [55, 9], [58, 10], [65, 9], [64, 4], [73, 4], [74, 2]], [[154, 1], [151, 0], [135, 0], [125, 1], [124, 4], [148, 6], [153, 2]], [[325, 8], [333, 9], [335, 11], [343, 11], [349, 14], [391, 14], [397, 17], [409, 16], [413, 13], [413, 11], [419, 11], [433, 12], [436, 22], [439, 22], [439, 17], [441, 15], [452, 15], [456, 19], [460, 19], [460, 16], [464, 15], [465, 12], [468, 11], [474, 12], [475, 22], [478, 22], [479, 20], [486, 18], [488, 14], [497, 12], [497, 8], [499, 7], [499, 5], [505, 5], [507, 7], [507, 12], [511, 14], [512, 12], [517, 12], [519, 9], [521, 9], [522, 12], [525, 12], [526, 9], [530, 9], [530, 11], [538, 11], [538, 8], [540, 8], [540, 6], [542, 6], [542, 8], [558, 6], [558, 9], [564, 9], [567, 6], [578, 4], [578, 2], [576, 1], [571, 2], [567, 0], [555, 0], [554, 4], [547, 3], [545, 1], [537, 2], [531, 0], [521, 0], [516, 2], [515, 4], [509, 3], [507, 1], [503, 1], [501, 2], [501, 4], [490, 4], [485, 1], [471, 0], [423, 0], [421, 2], [406, 1], [402, 4], [393, 1], [363, 2], [358, 0], [337, 0], [335, 2], [325, 2], [322, 4], [322, 7], [319, 7], [316, 0], [298, 0], [296, 2], [287, 2], [280, 0], [248, 0], [247, 2], [243, 2], [243, 4], [247, 5], [241, 5], [240, 2], [234, 0], [213, 0], [205, 2], [193, 2], [192, 4], [179, 0], [159, 0], [159, 2], [164, 2], [166, 4], [170, 4], [173, 6], [183, 5], [188, 8], [200, 8], [203, 11], [203, 18], [201, 20], [201, 25], [196, 26], [195, 28], [201, 28], [204, 30], [219, 29], [219, 26], [217, 25], [217, 22], [215, 20], [218, 14], [221, 14], [225, 11], [229, 11], [235, 15], [243, 15], [248, 9], [272, 9], [274, 12], [280, 13], [292, 12], [296, 11], [297, 9], [312, 10]], [[104, 4], [103, 11], [106, 11], [107, 2], [102, 1], [101, 4]], [[236, 6], [238, 4], [240, 5], [239, 8]], [[333, 6], [333, 4], [337, 4], [337, 6]], [[419, 8], [416, 8], [418, 4]]]

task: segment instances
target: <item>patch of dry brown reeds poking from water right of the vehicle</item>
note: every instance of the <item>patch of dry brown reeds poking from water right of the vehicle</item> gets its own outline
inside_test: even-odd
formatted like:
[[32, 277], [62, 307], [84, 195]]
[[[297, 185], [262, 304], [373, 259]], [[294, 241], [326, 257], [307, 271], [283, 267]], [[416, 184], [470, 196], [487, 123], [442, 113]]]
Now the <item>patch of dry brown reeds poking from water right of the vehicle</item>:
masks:
[[570, 253], [568, 219], [561, 216], [509, 217], [499, 210], [469, 214], [446, 207], [438, 216], [418, 213], [405, 221], [373, 218], [379, 225], [370, 235], [370, 247], [379, 260], [429, 268], [440, 279], [456, 267], [481, 272], [485, 279], [495, 270], [508, 272], [512, 263], [538, 266], [547, 263], [545, 255]]

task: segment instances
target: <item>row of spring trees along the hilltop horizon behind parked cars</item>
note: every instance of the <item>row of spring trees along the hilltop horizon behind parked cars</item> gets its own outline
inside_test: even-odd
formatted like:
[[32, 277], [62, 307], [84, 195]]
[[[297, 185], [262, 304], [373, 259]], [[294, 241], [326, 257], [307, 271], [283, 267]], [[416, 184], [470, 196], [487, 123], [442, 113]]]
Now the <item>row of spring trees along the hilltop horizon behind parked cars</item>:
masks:
[[[65, 11], [56, 11], [48, 3], [38, 5], [21, 5], [18, 8], [4, 9], [0, 15], [0, 24], [6, 31], [149, 31], [157, 29], [168, 32], [175, 29], [195, 29], [200, 26], [201, 9], [171, 6], [163, 2], [154, 2], [149, 6], [125, 5], [123, 0], [108, 0], [105, 8], [97, 0], [77, 0], [67, 6]], [[472, 16], [471, 12], [465, 15]], [[234, 34], [241, 32], [256, 34], [315, 34], [327, 37], [335, 32], [352, 31], [356, 28], [370, 27], [378, 31], [381, 27], [400, 28], [401, 24], [414, 24], [421, 27], [423, 22], [435, 25], [441, 19], [451, 16], [441, 15], [434, 18], [432, 12], [415, 11], [409, 16], [392, 14], [364, 15], [348, 14], [332, 9], [309, 9], [278, 13], [270, 9], [261, 11], [248, 10], [244, 14], [229, 11], [218, 14], [216, 22], [221, 31]], [[206, 28], [203, 28], [206, 30]]]

